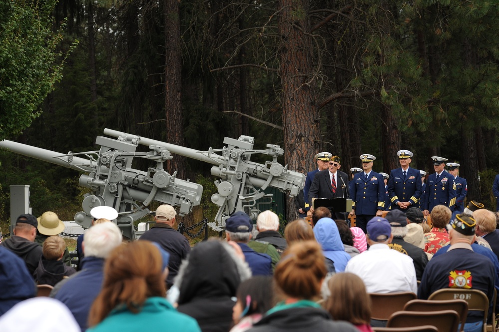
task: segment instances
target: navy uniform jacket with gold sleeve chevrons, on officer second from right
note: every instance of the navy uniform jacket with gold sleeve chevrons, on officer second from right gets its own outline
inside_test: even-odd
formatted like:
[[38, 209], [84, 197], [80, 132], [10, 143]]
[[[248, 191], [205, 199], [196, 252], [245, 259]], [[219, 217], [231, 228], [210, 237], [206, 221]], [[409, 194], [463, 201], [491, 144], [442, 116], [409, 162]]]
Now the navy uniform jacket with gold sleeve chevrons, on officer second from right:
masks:
[[437, 181], [437, 173], [431, 174], [426, 184], [423, 209], [431, 212], [435, 206], [445, 205], [452, 211], [455, 204], [456, 186], [454, 176], [444, 170]]

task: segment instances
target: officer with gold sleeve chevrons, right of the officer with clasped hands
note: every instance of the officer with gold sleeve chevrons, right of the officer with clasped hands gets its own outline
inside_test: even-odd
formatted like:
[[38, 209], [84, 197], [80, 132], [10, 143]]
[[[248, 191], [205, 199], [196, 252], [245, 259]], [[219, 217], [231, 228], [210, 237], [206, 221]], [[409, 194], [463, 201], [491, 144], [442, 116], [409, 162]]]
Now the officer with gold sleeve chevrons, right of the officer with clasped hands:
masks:
[[428, 216], [437, 205], [445, 205], [454, 210], [456, 204], [456, 186], [454, 176], [444, 169], [447, 159], [433, 156], [435, 173], [428, 177], [426, 183], [425, 199], [423, 200], [423, 213]]

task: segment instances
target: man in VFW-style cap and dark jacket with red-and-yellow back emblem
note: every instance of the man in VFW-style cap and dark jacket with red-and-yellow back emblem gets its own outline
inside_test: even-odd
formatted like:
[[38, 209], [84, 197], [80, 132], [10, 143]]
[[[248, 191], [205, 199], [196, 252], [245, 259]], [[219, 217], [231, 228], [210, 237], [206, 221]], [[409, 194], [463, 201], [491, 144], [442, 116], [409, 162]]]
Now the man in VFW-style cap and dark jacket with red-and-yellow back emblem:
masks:
[[[442, 288], [477, 289], [487, 295], [492, 306], [496, 272], [487, 257], [472, 249], [476, 238], [475, 219], [458, 214], [447, 228], [451, 246], [445, 254], [434, 256], [426, 266], [418, 298], [426, 300]], [[464, 331], [482, 331], [482, 315], [482, 312], [469, 311]]]

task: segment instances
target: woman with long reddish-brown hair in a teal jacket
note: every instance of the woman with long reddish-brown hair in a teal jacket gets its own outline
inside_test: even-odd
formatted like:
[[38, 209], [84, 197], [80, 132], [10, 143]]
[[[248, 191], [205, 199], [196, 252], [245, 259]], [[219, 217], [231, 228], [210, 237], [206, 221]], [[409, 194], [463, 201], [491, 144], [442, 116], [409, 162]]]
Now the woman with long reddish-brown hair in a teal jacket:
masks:
[[165, 299], [169, 254], [149, 241], [123, 243], [106, 259], [102, 290], [89, 315], [89, 332], [199, 332], [195, 319]]

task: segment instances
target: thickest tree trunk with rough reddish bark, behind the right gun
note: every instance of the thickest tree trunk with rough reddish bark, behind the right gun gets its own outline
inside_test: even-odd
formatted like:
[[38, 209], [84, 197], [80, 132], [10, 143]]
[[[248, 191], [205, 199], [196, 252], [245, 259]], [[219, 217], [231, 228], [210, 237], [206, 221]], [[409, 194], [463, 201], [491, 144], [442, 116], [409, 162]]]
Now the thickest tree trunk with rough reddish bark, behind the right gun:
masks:
[[[310, 0], [279, 0], [278, 3], [284, 157], [289, 169], [305, 172], [307, 161], [313, 159], [319, 146], [320, 117], [315, 103], [317, 83], [312, 76]], [[288, 221], [296, 218], [293, 201], [294, 198], [288, 198], [286, 202]]]

